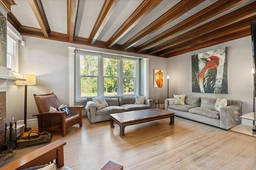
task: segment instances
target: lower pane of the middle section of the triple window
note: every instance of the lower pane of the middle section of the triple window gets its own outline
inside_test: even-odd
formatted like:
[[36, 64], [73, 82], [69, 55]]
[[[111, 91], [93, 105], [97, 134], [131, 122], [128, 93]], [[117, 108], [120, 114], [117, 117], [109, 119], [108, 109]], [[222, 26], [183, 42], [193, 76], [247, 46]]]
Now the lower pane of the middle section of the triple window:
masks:
[[104, 78], [104, 95], [117, 95], [117, 78]]

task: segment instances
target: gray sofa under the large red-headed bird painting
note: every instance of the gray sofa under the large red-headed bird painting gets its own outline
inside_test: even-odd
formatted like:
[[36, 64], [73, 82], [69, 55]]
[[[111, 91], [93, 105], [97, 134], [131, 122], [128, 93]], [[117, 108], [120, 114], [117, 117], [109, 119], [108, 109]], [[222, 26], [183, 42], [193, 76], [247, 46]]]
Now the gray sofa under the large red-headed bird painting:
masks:
[[242, 102], [228, 100], [228, 105], [222, 107], [220, 112], [215, 110], [214, 98], [198, 98], [185, 96], [186, 105], [170, 105], [165, 100], [165, 110], [172, 111], [176, 116], [196, 120], [212, 126], [228, 130], [236, 125], [241, 124], [240, 116], [242, 114]]

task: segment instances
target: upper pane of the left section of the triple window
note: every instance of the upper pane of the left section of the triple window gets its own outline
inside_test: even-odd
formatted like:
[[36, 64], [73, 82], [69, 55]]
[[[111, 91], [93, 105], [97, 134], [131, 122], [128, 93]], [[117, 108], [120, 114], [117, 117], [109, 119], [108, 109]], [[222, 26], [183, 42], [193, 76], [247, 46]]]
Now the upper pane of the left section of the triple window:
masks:
[[80, 55], [80, 75], [98, 76], [98, 57]]

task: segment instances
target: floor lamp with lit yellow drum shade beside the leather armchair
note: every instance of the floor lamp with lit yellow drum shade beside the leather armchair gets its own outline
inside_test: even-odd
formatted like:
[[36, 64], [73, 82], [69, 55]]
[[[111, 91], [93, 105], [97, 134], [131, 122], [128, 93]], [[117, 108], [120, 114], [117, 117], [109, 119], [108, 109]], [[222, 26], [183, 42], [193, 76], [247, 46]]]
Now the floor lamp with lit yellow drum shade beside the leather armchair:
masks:
[[25, 99], [24, 99], [24, 124], [25, 132], [30, 131], [31, 128], [27, 127], [27, 95], [28, 95], [28, 85], [35, 85], [36, 80], [34, 75], [18, 75], [16, 78], [25, 79], [26, 81], [16, 81], [16, 85], [25, 86]]

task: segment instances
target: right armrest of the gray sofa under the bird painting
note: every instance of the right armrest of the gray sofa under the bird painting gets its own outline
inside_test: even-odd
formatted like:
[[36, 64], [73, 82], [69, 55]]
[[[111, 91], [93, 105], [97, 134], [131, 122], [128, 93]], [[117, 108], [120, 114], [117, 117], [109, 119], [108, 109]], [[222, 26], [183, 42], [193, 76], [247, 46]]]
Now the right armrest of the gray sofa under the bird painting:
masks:
[[241, 107], [237, 105], [225, 106], [220, 110], [220, 127], [230, 129], [241, 124]]

